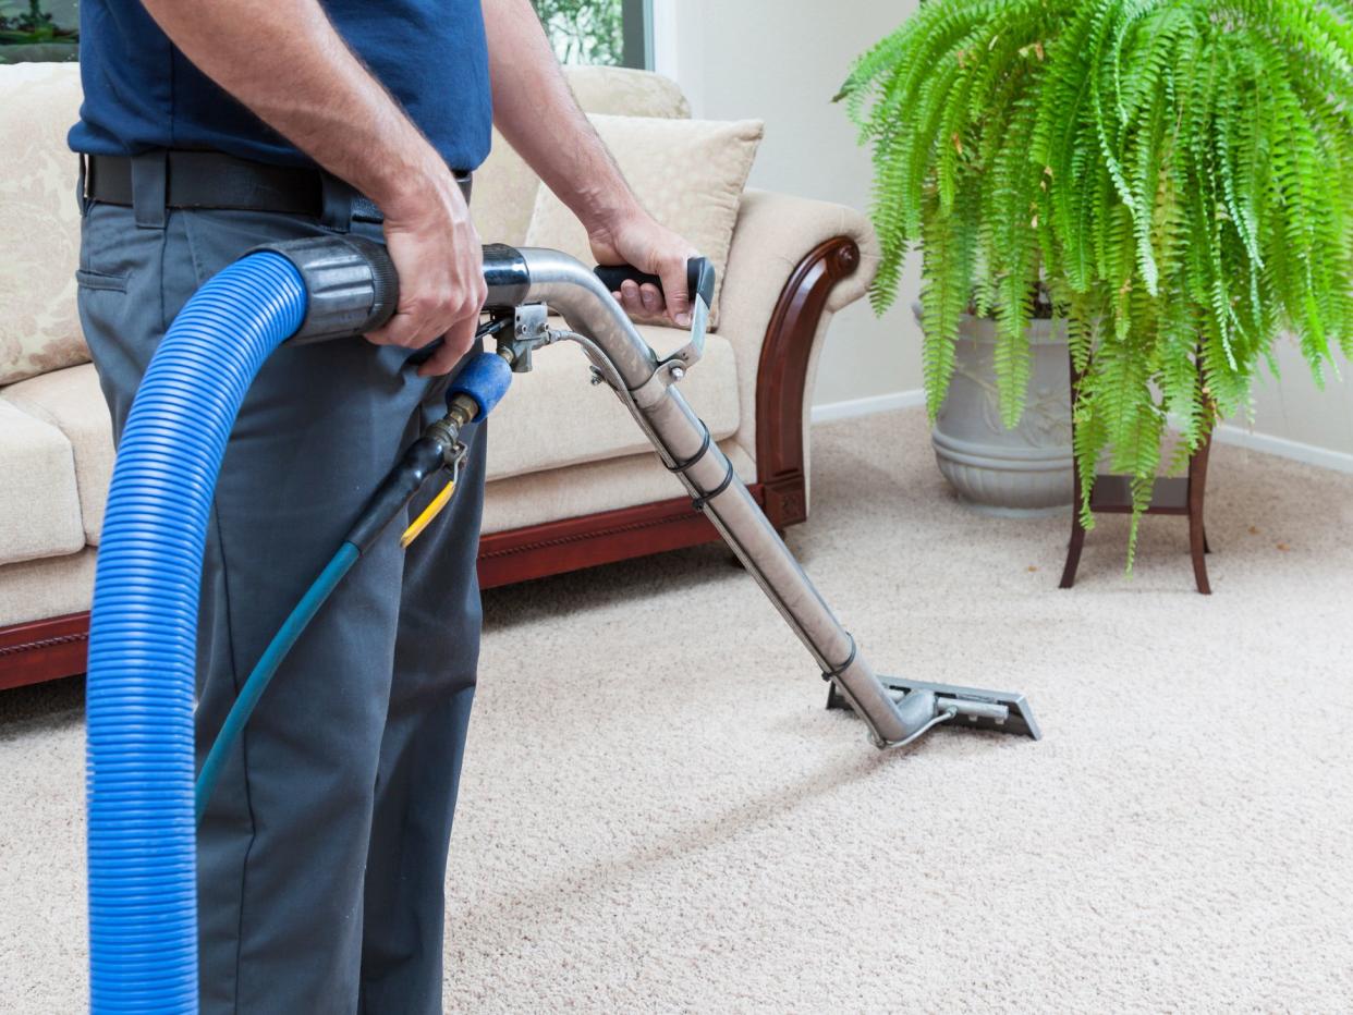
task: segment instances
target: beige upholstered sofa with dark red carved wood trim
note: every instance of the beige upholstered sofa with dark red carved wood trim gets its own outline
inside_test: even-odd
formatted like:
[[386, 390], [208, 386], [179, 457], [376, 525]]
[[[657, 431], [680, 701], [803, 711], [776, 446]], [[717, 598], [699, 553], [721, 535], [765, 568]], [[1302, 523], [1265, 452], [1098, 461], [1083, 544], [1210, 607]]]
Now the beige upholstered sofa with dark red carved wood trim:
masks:
[[[589, 68], [571, 83], [593, 112], [689, 115], [656, 74]], [[0, 687], [83, 671], [112, 470], [76, 314], [76, 160], [65, 131], [78, 103], [72, 65], [0, 66]], [[475, 181], [486, 242], [522, 242], [538, 185], [498, 143]], [[805, 399], [823, 336], [874, 264], [858, 212], [743, 195], [717, 334], [683, 388], [779, 526], [808, 516]], [[659, 351], [682, 340], [643, 330]], [[572, 348], [538, 355], [517, 379], [494, 420], [487, 479], [486, 587], [714, 537], [610, 392], [587, 384]]]

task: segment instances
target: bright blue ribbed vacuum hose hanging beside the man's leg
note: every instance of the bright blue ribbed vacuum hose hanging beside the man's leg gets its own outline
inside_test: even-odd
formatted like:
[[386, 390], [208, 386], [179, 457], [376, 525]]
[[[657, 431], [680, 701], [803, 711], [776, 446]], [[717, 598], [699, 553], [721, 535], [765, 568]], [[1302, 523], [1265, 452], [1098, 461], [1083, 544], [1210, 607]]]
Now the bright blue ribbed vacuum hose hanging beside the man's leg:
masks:
[[193, 689], [207, 518], [245, 392], [304, 315], [287, 258], [230, 265], [175, 319], [122, 434], [89, 631], [95, 1015], [198, 1010]]

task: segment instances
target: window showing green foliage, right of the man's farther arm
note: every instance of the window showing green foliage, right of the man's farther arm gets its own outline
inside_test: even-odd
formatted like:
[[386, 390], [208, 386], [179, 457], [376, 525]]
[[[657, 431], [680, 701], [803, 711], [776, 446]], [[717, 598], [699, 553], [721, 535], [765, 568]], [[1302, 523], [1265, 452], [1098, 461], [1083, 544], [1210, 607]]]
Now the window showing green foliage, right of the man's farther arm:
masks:
[[564, 64], [652, 66], [652, 0], [532, 0]]

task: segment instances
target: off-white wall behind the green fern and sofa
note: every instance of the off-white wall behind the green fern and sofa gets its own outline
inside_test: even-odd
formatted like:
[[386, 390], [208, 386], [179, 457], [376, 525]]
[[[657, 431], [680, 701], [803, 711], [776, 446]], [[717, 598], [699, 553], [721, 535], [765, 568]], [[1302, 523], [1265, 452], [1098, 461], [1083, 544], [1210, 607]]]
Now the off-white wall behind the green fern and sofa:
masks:
[[[851, 61], [916, 7], [916, 0], [653, 0], [658, 70], [681, 83], [697, 116], [766, 120], [752, 185], [867, 208], [869, 156], [831, 97]], [[913, 258], [885, 318], [863, 303], [836, 318], [816, 405], [886, 405], [920, 387], [920, 332], [911, 314], [919, 287]], [[1331, 375], [1316, 392], [1295, 353], [1280, 356], [1281, 383], [1265, 376], [1257, 386], [1249, 443], [1353, 471], [1353, 365], [1341, 357], [1345, 379]], [[1235, 421], [1222, 436], [1245, 438], [1249, 429]]]

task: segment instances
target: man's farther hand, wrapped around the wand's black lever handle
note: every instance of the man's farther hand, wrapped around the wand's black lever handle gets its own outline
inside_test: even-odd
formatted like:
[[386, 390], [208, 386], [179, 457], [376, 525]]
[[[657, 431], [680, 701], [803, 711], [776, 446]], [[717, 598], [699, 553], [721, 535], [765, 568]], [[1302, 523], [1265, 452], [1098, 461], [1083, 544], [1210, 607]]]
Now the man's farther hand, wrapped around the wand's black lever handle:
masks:
[[630, 211], [614, 223], [589, 230], [597, 264], [630, 264], [663, 280], [663, 294], [656, 286], [625, 281], [614, 294], [630, 317], [662, 317], [678, 328], [690, 328], [690, 296], [686, 292], [686, 261], [698, 256], [695, 249], [659, 225], [644, 211]]

